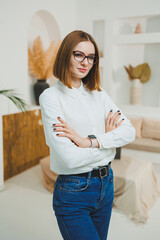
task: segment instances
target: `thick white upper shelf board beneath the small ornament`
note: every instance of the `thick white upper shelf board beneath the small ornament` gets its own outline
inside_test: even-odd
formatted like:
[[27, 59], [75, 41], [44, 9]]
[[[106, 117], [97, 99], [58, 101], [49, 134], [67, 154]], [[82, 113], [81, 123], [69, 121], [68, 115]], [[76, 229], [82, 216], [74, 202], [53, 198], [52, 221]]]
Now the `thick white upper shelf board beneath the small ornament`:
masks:
[[124, 34], [113, 35], [113, 44], [150, 44], [160, 43], [160, 33], [140, 33], [140, 34]]

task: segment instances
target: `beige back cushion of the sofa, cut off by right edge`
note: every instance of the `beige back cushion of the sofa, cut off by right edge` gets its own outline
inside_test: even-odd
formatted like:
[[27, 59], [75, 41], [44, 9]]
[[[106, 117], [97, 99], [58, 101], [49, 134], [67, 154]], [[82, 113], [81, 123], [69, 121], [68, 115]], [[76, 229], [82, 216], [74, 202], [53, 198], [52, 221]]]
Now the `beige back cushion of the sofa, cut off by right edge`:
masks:
[[160, 140], [160, 121], [144, 118], [142, 137]]

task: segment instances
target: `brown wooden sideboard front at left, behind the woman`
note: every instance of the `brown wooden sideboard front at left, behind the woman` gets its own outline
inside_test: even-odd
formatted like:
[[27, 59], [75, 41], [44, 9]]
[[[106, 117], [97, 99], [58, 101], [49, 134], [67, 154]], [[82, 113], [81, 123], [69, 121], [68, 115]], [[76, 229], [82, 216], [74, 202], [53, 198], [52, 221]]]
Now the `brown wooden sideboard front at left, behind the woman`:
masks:
[[8, 179], [49, 155], [40, 110], [3, 116], [4, 179]]

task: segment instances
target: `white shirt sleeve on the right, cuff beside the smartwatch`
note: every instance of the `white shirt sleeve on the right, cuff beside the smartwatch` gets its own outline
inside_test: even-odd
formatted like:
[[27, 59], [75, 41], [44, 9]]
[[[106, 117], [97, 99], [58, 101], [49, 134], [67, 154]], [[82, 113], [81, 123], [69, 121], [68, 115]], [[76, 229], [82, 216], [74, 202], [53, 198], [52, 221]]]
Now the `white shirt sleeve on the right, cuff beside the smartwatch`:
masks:
[[[102, 98], [105, 105], [105, 115], [106, 119], [110, 110], [113, 110], [113, 114], [120, 110], [108, 96], [105, 90], [102, 91]], [[121, 110], [120, 110], [121, 112]], [[100, 149], [108, 148], [118, 148], [122, 147], [135, 140], [135, 128], [132, 126], [131, 122], [127, 117], [121, 112], [121, 117], [119, 121], [123, 119], [120, 127], [115, 128], [107, 133], [102, 133], [97, 135], [97, 140], [100, 144]]]

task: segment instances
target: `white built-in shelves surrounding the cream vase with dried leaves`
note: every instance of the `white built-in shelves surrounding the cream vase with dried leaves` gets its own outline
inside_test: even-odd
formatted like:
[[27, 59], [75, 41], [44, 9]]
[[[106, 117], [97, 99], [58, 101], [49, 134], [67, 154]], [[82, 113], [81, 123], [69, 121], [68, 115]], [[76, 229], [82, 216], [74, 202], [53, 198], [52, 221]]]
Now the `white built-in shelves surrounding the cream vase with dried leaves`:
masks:
[[[137, 24], [142, 33], [135, 33]], [[115, 19], [112, 33], [112, 66], [116, 103], [128, 115], [160, 118], [160, 15]], [[124, 66], [147, 62], [151, 79], [142, 84], [142, 104], [130, 104], [131, 81]], [[118, 93], [122, 94], [119, 95]]]

